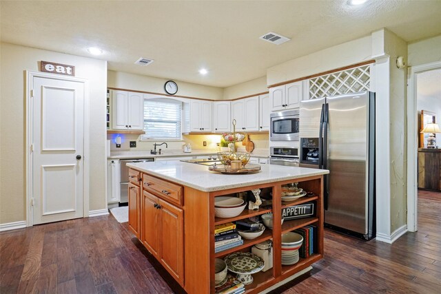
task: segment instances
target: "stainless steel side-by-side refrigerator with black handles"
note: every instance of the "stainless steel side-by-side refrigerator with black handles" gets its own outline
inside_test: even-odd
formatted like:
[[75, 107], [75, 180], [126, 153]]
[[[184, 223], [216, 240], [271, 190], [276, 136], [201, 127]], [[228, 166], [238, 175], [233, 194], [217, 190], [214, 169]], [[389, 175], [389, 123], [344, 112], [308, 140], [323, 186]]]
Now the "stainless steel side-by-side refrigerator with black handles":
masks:
[[325, 226], [375, 237], [375, 94], [300, 102], [300, 167], [329, 169]]

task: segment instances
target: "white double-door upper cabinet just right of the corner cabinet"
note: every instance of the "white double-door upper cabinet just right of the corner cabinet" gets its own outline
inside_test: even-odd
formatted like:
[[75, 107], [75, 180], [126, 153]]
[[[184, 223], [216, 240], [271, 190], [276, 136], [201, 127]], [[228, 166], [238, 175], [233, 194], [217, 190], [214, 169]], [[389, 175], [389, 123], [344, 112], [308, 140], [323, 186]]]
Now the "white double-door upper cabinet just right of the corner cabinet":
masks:
[[232, 117], [236, 131], [255, 132], [259, 129], [259, 96], [232, 101]]

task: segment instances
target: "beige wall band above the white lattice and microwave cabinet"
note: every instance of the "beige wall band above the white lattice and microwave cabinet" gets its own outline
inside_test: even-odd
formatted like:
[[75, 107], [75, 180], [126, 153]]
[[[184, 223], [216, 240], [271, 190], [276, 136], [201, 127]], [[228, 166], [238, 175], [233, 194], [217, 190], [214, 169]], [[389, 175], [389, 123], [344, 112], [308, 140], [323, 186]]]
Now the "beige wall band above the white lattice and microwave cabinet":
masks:
[[372, 58], [371, 40], [371, 36], [366, 36], [269, 67], [267, 85], [370, 60]]

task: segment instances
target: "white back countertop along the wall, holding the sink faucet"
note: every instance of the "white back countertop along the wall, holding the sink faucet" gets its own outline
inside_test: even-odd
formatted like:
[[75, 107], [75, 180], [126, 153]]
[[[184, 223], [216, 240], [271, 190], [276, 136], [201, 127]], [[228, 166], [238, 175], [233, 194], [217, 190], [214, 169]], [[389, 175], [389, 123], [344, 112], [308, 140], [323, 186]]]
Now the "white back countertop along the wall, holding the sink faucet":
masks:
[[[157, 157], [175, 157], [175, 156], [204, 156], [216, 154], [218, 150], [212, 149], [193, 149], [190, 153], [185, 153], [182, 150], [165, 149], [162, 154], [150, 154], [150, 150], [143, 151], [110, 151], [109, 159], [142, 159], [142, 158], [157, 158]], [[256, 149], [252, 152], [251, 156], [268, 158], [268, 149]]]

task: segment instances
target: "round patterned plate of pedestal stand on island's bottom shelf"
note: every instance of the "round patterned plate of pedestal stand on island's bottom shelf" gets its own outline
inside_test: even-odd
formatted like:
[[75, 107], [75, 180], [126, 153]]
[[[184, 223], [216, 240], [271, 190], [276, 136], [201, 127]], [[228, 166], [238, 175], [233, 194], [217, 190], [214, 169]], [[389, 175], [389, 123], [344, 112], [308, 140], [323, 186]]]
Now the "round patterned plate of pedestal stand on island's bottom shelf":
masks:
[[228, 270], [233, 273], [257, 273], [264, 266], [262, 258], [249, 252], [232, 253], [227, 255], [224, 260]]

